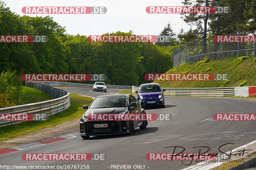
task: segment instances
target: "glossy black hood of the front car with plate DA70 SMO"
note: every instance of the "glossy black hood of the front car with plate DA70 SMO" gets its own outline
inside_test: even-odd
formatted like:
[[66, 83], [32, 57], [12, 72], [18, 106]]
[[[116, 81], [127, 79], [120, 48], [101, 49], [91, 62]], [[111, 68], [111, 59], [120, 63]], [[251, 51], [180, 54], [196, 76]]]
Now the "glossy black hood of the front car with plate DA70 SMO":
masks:
[[88, 109], [85, 114], [118, 114], [124, 112], [126, 107], [115, 107], [115, 108], [99, 108], [99, 109]]

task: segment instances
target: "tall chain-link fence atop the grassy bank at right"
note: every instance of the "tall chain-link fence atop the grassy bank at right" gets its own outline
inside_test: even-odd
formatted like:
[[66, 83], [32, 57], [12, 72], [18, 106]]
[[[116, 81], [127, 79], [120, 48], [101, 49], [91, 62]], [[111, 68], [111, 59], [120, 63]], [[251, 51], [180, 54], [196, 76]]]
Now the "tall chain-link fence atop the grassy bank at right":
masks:
[[198, 62], [204, 57], [209, 60], [223, 60], [231, 57], [256, 57], [255, 43], [216, 43], [213, 38], [188, 42], [172, 52], [173, 67], [183, 62]]

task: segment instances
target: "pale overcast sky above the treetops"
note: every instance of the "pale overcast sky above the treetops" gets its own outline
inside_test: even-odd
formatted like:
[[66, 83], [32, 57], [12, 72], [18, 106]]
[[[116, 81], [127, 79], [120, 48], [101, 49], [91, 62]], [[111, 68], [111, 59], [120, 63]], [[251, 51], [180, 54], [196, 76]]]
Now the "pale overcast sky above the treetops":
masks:
[[[12, 12], [31, 17], [47, 16], [61, 26], [66, 26], [68, 34], [102, 35], [107, 32], [129, 32], [136, 35], [159, 35], [168, 22], [175, 33], [187, 25], [180, 14], [148, 14], [147, 6], [183, 6], [182, 0], [4, 0]], [[105, 6], [105, 14], [23, 14], [24, 6]]]

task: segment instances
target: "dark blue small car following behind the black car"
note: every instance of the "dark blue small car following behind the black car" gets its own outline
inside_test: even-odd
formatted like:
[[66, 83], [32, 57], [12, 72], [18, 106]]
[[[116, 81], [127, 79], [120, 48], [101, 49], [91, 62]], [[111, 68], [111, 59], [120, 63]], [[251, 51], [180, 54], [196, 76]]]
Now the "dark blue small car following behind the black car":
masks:
[[141, 107], [147, 106], [161, 106], [164, 107], [164, 95], [161, 87], [158, 83], [146, 83], [141, 84], [139, 91], [135, 91], [138, 94], [138, 101]]

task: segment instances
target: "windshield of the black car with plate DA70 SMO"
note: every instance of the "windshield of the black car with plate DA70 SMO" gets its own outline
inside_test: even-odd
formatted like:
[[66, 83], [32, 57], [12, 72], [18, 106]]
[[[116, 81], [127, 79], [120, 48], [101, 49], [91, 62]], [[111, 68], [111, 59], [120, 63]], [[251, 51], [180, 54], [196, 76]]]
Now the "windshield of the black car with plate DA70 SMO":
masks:
[[126, 97], [125, 96], [99, 97], [92, 102], [90, 109], [109, 108], [109, 107], [126, 107]]

